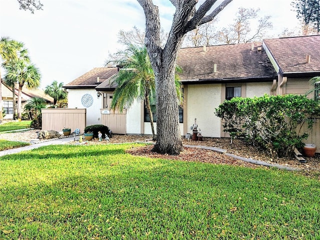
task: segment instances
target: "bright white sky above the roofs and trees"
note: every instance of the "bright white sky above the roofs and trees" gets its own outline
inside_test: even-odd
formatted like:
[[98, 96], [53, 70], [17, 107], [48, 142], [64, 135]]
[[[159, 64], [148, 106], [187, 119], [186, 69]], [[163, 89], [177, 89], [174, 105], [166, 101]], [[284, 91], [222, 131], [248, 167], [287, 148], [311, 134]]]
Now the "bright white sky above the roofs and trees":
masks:
[[[261, 16], [271, 15], [270, 37], [277, 37], [284, 28], [299, 24], [291, 1], [233, 0], [218, 14], [218, 23], [221, 26], [231, 23], [240, 6], [259, 7]], [[159, 7], [161, 27], [168, 32], [175, 9], [169, 0], [153, 2]], [[144, 13], [136, 0], [41, 0], [41, 3], [43, 10], [32, 14], [20, 10], [17, 0], [0, 0], [0, 37], [24, 43], [31, 61], [41, 72], [42, 89], [53, 80], [66, 84], [93, 67], [103, 66], [108, 53], [122, 47], [117, 43], [120, 29], [145, 28]]]

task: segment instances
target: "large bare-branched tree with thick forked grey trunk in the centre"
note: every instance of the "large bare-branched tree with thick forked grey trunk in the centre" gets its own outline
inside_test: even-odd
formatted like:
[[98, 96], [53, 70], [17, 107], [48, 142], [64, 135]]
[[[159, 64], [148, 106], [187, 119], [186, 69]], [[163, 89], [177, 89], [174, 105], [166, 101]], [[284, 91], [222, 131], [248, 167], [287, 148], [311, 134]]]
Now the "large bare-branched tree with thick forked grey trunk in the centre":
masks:
[[155, 76], [156, 130], [153, 151], [179, 154], [183, 150], [179, 129], [177, 95], [174, 84], [174, 68], [177, 51], [185, 33], [213, 18], [232, 0], [223, 2], [208, 15], [216, 0], [205, 0], [196, 9], [197, 0], [170, 0], [175, 6], [172, 25], [165, 46], [161, 47], [159, 9], [152, 0], [137, 0], [145, 15], [145, 40]]

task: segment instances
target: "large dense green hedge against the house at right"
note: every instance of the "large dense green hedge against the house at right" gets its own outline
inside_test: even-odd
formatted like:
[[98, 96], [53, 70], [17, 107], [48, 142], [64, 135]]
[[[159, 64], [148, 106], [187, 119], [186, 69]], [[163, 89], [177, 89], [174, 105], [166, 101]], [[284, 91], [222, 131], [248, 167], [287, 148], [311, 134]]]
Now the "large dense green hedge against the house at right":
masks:
[[312, 127], [319, 105], [305, 96], [265, 94], [261, 97], [234, 97], [215, 109], [223, 121], [223, 131], [232, 138], [246, 139], [266, 148], [275, 156], [288, 156], [302, 147], [308, 134], [302, 125]]

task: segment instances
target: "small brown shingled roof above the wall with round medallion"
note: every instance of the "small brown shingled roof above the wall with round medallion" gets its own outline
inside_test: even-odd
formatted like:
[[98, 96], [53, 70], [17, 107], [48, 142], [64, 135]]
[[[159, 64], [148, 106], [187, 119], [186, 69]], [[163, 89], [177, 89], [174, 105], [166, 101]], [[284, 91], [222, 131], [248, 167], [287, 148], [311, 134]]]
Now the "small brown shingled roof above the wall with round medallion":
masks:
[[117, 67], [94, 67], [73, 81], [65, 84], [65, 88], [94, 88], [101, 82], [117, 73]]

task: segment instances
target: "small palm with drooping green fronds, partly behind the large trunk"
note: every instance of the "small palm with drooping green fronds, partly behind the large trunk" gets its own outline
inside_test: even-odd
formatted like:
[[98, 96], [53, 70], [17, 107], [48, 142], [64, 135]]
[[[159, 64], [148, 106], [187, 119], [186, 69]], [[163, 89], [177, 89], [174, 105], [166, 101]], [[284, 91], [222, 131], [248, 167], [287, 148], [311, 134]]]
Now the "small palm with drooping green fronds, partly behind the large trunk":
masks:
[[[121, 66], [113, 82], [117, 84], [112, 96], [111, 108], [129, 108], [133, 101], [144, 101], [150, 118], [152, 138], [155, 139], [151, 105], [155, 104], [154, 73], [145, 46], [129, 45], [127, 59], [119, 62]], [[182, 99], [181, 84], [176, 78], [177, 95]]]

